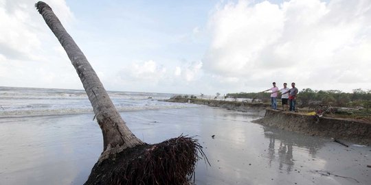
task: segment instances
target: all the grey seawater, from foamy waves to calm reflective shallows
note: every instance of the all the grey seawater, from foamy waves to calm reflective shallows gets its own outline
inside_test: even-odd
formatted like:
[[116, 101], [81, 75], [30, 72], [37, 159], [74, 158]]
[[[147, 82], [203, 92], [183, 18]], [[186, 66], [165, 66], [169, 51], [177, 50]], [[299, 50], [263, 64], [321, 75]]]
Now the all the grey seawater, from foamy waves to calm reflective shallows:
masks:
[[[371, 147], [304, 136], [234, 112], [158, 101], [171, 94], [109, 92], [146, 143], [194, 136], [195, 184], [369, 184]], [[148, 99], [148, 97], [151, 97]], [[83, 90], [0, 87], [0, 184], [83, 184], [102, 152], [102, 133]], [[212, 138], [214, 135], [214, 138]]]

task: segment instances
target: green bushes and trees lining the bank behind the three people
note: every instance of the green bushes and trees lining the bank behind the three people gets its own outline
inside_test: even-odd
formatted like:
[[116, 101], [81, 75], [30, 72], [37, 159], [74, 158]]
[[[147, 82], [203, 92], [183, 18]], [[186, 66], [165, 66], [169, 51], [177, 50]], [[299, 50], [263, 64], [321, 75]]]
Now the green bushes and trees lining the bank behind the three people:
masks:
[[[220, 93], [214, 96], [205, 96], [201, 94], [197, 101], [195, 95], [177, 95], [172, 97], [175, 101], [180, 102], [195, 102], [199, 104], [210, 104], [214, 101], [235, 101], [236, 106], [242, 103], [262, 103], [269, 106], [271, 93], [228, 93], [223, 98], [218, 98]], [[214, 97], [214, 98], [213, 98]], [[280, 99], [278, 99], [280, 101]], [[215, 103], [214, 104], [220, 104]], [[229, 103], [230, 104], [230, 103]], [[280, 104], [280, 103], [278, 103]], [[344, 119], [361, 119], [371, 121], [371, 90], [362, 90], [357, 88], [352, 90], [352, 93], [344, 93], [341, 90], [312, 90], [304, 88], [297, 94], [297, 108], [299, 112], [318, 112], [321, 111], [326, 116], [339, 117]]]

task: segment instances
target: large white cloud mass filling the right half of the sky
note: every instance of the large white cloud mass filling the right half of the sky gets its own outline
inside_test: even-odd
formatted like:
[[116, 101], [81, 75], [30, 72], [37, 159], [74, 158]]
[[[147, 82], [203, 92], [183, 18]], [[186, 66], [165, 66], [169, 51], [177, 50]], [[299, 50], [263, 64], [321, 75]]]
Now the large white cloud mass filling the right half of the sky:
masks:
[[[208, 73], [258, 89], [298, 82], [317, 89], [371, 86], [371, 1], [225, 3], [209, 23]], [[353, 75], [351, 75], [353, 74]], [[341, 84], [358, 83], [354, 86]]]

